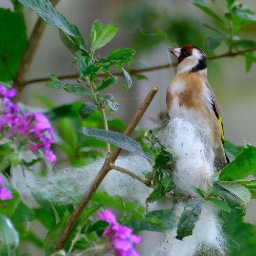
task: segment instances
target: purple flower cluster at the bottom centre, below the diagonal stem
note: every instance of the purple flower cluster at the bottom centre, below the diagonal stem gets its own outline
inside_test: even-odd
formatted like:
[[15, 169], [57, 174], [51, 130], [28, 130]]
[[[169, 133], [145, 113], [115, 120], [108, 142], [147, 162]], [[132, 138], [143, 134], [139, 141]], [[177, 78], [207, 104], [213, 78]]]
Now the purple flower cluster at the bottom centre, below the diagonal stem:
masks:
[[133, 248], [134, 244], [139, 244], [141, 237], [133, 234], [133, 229], [120, 225], [115, 215], [108, 209], [102, 213], [97, 212], [102, 221], [110, 225], [103, 232], [103, 237], [109, 237], [111, 247], [115, 250], [115, 256], [139, 256], [140, 254]]

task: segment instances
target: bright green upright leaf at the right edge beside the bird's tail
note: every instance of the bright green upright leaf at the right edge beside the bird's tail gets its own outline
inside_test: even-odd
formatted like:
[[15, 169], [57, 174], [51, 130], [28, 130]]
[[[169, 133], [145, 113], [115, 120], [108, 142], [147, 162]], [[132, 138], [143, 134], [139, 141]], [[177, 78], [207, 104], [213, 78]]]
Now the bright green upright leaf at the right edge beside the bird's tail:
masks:
[[247, 177], [256, 170], [256, 148], [247, 145], [245, 150], [220, 172], [219, 180], [236, 180]]

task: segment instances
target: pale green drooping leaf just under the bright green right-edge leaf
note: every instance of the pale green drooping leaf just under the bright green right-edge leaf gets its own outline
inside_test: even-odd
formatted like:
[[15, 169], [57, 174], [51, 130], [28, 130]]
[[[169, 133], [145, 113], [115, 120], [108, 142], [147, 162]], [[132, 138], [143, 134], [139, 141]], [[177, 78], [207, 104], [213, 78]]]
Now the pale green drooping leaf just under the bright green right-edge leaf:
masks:
[[251, 193], [248, 188], [240, 184], [234, 184], [233, 182], [217, 181], [217, 184], [227, 191], [229, 191], [234, 197], [239, 199], [243, 204], [243, 208], [246, 208], [250, 201]]

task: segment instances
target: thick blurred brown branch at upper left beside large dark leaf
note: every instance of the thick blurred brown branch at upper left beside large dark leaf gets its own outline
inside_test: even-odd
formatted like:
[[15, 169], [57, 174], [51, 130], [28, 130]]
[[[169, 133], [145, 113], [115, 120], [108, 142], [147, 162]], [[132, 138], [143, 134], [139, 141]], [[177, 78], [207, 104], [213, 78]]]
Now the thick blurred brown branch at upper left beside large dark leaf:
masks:
[[[57, 5], [59, 0], [52, 0], [53, 7]], [[39, 45], [39, 41], [42, 37], [46, 28], [46, 23], [40, 17], [38, 17], [37, 22], [33, 28], [33, 31], [29, 37], [28, 45], [26, 47], [23, 58], [20, 62], [18, 71], [13, 79], [14, 87], [17, 89], [16, 99], [20, 98], [20, 94], [22, 93], [25, 85], [27, 76], [31, 67], [32, 60], [34, 58], [35, 52]]]

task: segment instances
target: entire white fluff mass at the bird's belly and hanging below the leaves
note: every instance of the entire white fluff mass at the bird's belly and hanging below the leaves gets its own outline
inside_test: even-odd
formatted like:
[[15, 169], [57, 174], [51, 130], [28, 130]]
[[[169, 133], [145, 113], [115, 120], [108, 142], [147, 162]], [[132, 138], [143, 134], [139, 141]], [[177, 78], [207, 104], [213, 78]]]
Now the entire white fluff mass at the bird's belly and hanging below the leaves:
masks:
[[[206, 189], [212, 184], [215, 172], [214, 152], [204, 139], [204, 131], [200, 131], [198, 127], [183, 118], [174, 118], [158, 133], [158, 137], [177, 158], [173, 178], [178, 191], [196, 195], [191, 185]], [[183, 202], [178, 202], [176, 205], [177, 220], [181, 217], [184, 205]], [[225, 254], [218, 210], [212, 203], [207, 202], [202, 205], [202, 212], [192, 236], [185, 237], [182, 241], [177, 240], [175, 238], [177, 224], [176, 228], [163, 234], [153, 255]]]

